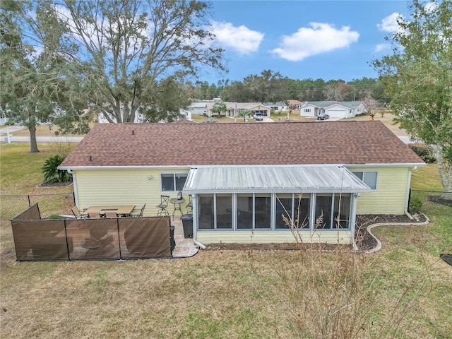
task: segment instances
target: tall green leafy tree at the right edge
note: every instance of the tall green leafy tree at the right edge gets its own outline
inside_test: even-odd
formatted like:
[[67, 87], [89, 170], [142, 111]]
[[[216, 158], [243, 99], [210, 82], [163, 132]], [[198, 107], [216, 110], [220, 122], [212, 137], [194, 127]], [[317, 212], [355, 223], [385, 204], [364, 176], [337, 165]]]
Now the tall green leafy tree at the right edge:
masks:
[[452, 200], [452, 2], [419, 0], [411, 20], [398, 19], [388, 37], [392, 55], [372, 61], [392, 97], [396, 121], [407, 133], [432, 145], [443, 198]]

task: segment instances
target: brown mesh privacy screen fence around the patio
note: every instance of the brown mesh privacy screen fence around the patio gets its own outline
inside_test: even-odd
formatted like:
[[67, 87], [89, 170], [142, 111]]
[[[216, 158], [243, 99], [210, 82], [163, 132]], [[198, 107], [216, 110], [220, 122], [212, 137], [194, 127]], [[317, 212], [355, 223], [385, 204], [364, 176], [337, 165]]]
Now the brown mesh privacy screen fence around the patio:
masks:
[[[35, 220], [23, 220], [25, 216]], [[32, 206], [11, 220], [18, 261], [169, 258], [168, 217], [39, 220]], [[22, 220], [20, 220], [20, 219]]]

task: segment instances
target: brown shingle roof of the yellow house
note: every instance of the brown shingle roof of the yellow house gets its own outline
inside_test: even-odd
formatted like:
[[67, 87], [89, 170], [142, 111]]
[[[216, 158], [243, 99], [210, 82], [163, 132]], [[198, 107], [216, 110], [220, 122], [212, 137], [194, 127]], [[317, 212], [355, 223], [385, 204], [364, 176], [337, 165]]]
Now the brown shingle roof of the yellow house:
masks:
[[61, 167], [422, 163], [379, 121], [97, 124]]

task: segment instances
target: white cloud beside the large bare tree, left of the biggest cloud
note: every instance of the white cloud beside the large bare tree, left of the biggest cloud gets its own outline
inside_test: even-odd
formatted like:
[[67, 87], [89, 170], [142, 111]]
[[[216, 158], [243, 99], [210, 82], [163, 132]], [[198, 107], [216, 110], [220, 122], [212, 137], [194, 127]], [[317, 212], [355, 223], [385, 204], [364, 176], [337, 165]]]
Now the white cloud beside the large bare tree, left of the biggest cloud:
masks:
[[239, 54], [251, 54], [256, 52], [263, 40], [263, 33], [250, 30], [244, 25], [234, 27], [232, 23], [212, 22], [212, 30], [218, 42], [234, 49]]

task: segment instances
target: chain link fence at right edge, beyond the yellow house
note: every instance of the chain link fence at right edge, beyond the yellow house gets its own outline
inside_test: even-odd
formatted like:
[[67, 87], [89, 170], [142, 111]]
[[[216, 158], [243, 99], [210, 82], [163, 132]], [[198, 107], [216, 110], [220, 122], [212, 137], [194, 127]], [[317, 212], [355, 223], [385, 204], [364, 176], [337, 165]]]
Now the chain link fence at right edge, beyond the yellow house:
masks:
[[432, 213], [450, 215], [452, 218], [452, 201], [444, 198], [444, 194], [452, 192], [418, 191], [410, 190], [408, 211], [414, 213], [420, 211], [426, 215]]

